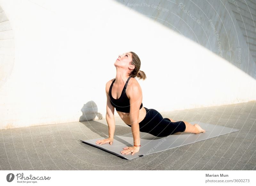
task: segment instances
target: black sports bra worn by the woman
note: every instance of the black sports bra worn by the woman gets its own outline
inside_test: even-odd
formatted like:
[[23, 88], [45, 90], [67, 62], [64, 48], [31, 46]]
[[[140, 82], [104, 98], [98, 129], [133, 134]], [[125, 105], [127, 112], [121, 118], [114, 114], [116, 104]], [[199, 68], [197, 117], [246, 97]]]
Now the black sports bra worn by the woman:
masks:
[[[114, 81], [111, 83], [111, 85], [109, 87], [108, 95], [109, 95], [109, 98], [110, 98], [110, 102], [111, 102], [111, 105], [113, 105], [116, 108], [116, 111], [126, 112], [126, 113], [130, 112], [130, 99], [126, 96], [125, 90], [126, 90], [128, 81], [131, 79], [131, 77], [132, 76], [129, 76], [129, 78], [127, 79], [127, 81], [124, 85], [124, 89], [122, 91], [122, 94], [118, 99], [114, 99], [111, 95], [113, 83], [116, 81], [116, 79], [114, 79]], [[142, 108], [142, 106], [143, 106], [143, 104], [141, 103], [140, 109]]]

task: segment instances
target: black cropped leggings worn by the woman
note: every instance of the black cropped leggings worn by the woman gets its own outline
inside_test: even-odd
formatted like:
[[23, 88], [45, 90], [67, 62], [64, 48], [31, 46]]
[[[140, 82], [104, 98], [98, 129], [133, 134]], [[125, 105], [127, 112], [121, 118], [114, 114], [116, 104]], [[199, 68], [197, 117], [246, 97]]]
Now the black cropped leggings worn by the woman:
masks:
[[186, 125], [183, 121], [172, 122], [168, 118], [163, 118], [155, 109], [144, 108], [146, 109], [146, 117], [139, 123], [140, 132], [163, 137], [185, 131]]

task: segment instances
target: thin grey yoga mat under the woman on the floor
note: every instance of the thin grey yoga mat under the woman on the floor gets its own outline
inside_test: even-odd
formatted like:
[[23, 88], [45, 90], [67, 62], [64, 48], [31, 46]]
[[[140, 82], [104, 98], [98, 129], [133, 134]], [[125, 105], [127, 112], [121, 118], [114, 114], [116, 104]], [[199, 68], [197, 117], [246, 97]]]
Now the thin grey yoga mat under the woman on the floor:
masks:
[[199, 124], [200, 127], [205, 130], [205, 133], [193, 134], [193, 133], [178, 132], [170, 136], [156, 137], [144, 132], [140, 132], [140, 145], [141, 145], [140, 151], [136, 152], [134, 155], [131, 155], [131, 154], [125, 155], [125, 154], [121, 154], [120, 152], [124, 150], [123, 149], [124, 147], [133, 146], [133, 137], [131, 133], [124, 136], [114, 136], [112, 145], [110, 145], [109, 143], [105, 143], [101, 145], [96, 144], [97, 140], [105, 139], [104, 137], [90, 139], [86, 141], [83, 141], [83, 140], [80, 140], [80, 141], [83, 143], [92, 145], [94, 147], [100, 148], [104, 151], [108, 151], [121, 158], [134, 159], [134, 158], [146, 156], [148, 154], [152, 154], [155, 152], [165, 151], [165, 150], [179, 147], [182, 145], [187, 145], [190, 143], [195, 143], [195, 142], [199, 142], [212, 137], [238, 131], [238, 129], [235, 129], [235, 128], [212, 125], [209, 123], [203, 123], [199, 121], [193, 121], [190, 123]]

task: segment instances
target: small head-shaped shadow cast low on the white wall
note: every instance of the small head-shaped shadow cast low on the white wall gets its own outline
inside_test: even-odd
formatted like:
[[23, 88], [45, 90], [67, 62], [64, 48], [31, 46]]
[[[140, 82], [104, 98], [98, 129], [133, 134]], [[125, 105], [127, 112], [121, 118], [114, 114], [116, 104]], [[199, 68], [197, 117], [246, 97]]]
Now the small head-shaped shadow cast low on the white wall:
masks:
[[81, 109], [83, 115], [80, 116], [79, 121], [88, 121], [94, 119], [102, 119], [102, 114], [98, 112], [98, 107], [94, 101], [88, 101]]

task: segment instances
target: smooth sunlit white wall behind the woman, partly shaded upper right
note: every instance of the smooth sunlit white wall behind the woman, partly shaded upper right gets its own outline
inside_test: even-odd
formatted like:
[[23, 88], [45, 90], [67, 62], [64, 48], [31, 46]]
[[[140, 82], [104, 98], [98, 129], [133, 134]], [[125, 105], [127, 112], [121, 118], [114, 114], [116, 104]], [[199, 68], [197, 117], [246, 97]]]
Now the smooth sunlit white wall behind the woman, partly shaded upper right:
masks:
[[[0, 87], [0, 129], [105, 118], [105, 84], [116, 75], [117, 56], [127, 51], [139, 55], [147, 75], [138, 80], [147, 108], [163, 112], [256, 100], [256, 66], [236, 20], [228, 19], [228, 1], [197, 1], [201, 13], [188, 1], [144, 2], [159, 2], [169, 12], [114, 0], [0, 0], [15, 43], [12, 72]], [[223, 56], [209, 19], [221, 35]]]

